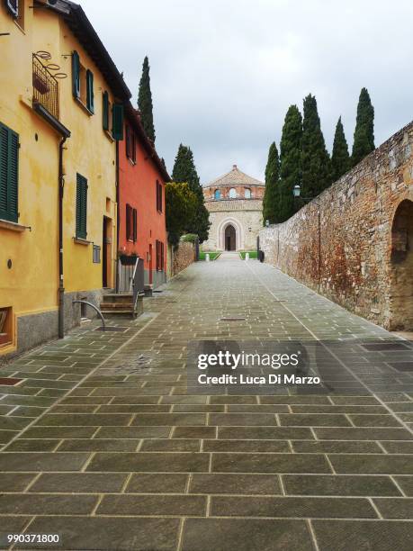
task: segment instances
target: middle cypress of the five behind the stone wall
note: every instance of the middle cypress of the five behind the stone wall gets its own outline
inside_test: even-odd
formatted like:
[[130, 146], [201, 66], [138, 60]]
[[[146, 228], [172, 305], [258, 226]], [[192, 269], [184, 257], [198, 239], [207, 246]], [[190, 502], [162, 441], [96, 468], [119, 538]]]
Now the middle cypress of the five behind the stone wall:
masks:
[[333, 181], [331, 160], [321, 131], [317, 101], [313, 95], [304, 98], [302, 121], [302, 196], [315, 197]]

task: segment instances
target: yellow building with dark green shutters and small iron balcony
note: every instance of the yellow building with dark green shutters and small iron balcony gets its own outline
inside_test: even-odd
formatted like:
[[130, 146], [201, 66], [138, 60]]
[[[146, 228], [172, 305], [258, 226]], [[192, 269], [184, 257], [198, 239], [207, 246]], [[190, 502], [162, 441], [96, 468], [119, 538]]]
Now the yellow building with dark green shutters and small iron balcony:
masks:
[[99, 304], [114, 286], [116, 140], [130, 91], [71, 2], [1, 2], [0, 49], [4, 355], [62, 336], [80, 321], [74, 300]]

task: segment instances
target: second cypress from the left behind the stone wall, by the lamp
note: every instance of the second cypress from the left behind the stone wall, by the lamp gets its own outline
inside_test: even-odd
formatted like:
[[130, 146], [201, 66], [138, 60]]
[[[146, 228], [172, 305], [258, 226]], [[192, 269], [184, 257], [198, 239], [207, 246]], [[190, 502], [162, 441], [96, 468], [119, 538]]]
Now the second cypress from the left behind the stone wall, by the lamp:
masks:
[[292, 189], [301, 185], [302, 118], [297, 105], [291, 105], [285, 115], [280, 142], [280, 200], [275, 219], [286, 221], [297, 210]]

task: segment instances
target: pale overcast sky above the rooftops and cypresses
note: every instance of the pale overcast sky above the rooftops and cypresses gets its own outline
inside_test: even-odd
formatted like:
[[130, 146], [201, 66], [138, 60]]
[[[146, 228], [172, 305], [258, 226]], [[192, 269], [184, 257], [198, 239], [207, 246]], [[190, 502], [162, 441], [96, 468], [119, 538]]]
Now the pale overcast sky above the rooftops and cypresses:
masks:
[[202, 183], [234, 163], [263, 178], [288, 106], [309, 93], [329, 150], [339, 115], [352, 143], [362, 86], [376, 145], [412, 119], [410, 0], [78, 1], [134, 102], [148, 55], [157, 150], [172, 170], [189, 145]]

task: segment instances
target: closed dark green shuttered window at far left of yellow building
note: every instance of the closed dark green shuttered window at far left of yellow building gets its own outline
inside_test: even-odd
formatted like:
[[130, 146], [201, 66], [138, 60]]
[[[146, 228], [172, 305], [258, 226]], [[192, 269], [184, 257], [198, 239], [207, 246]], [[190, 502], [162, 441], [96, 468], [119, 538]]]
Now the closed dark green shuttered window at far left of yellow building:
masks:
[[19, 135], [0, 122], [0, 218], [17, 222]]

